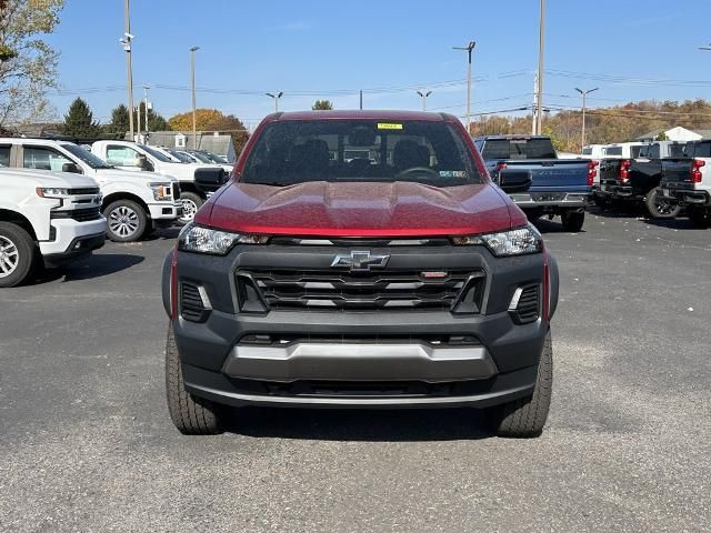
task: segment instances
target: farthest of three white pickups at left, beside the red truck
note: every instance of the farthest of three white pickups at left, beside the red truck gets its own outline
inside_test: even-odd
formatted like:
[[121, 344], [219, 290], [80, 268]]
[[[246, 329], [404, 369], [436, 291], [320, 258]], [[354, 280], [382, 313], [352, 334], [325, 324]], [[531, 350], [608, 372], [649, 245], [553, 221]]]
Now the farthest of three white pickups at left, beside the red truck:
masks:
[[182, 217], [180, 223], [188, 223], [204, 203], [207, 194], [196, 187], [196, 171], [200, 169], [219, 169], [213, 164], [180, 163], [173, 161], [159, 150], [131, 141], [97, 141], [91, 151], [99, 158], [122, 170], [152, 171], [169, 175], [180, 181], [180, 201]]

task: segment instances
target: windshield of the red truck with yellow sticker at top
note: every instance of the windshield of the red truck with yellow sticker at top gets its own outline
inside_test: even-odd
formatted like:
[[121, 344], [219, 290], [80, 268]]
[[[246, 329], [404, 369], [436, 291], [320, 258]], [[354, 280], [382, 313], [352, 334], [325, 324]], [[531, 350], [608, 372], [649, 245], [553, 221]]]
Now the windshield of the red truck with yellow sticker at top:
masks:
[[460, 133], [445, 122], [294, 120], [272, 122], [247, 160], [246, 183], [481, 183]]

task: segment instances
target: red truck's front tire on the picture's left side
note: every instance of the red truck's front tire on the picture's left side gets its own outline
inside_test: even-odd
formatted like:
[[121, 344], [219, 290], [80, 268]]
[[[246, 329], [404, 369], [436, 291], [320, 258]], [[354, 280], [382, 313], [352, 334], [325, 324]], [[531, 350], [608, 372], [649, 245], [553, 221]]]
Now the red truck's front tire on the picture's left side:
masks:
[[222, 433], [218, 406], [186, 391], [172, 324], [168, 328], [166, 340], [166, 396], [170, 418], [183, 435]]

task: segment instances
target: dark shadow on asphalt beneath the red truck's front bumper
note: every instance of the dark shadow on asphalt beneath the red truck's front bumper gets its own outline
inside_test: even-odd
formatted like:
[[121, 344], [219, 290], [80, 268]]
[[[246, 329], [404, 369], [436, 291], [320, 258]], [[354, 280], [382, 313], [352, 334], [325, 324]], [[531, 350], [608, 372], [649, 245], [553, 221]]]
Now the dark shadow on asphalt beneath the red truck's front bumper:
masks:
[[231, 410], [226, 430], [254, 438], [319, 441], [420, 442], [494, 436], [477, 409], [321, 410], [242, 408]]

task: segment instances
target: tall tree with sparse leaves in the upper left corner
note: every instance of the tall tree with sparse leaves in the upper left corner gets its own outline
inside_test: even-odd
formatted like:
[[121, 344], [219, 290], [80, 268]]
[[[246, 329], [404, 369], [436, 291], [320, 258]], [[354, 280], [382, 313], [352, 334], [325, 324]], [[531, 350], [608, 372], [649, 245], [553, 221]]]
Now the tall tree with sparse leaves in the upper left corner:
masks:
[[59, 22], [64, 0], [0, 0], [0, 127], [50, 113], [58, 53], [40, 36]]

